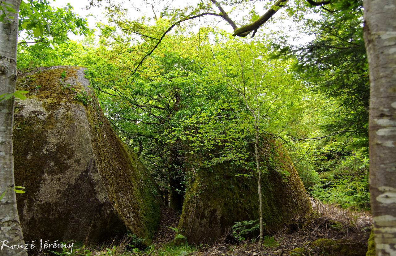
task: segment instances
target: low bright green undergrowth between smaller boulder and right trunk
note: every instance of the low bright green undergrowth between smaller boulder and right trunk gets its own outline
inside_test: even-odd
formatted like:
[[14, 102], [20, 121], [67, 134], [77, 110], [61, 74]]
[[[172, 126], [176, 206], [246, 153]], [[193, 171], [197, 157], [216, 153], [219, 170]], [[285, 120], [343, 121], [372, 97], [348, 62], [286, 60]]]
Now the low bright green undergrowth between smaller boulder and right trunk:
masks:
[[311, 193], [321, 201], [341, 207], [368, 210], [369, 159], [365, 149], [356, 150], [354, 146], [348, 146], [350, 139], [339, 140], [324, 140], [317, 145], [318, 149], [312, 157], [321, 180], [312, 186]]

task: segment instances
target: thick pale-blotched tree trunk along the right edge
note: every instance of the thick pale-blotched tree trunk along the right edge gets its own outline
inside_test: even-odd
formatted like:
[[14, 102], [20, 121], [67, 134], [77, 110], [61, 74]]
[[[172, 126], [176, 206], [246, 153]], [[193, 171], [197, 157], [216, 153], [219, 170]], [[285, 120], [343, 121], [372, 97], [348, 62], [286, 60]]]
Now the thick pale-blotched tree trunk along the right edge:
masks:
[[396, 0], [364, 0], [370, 195], [377, 255], [396, 255]]

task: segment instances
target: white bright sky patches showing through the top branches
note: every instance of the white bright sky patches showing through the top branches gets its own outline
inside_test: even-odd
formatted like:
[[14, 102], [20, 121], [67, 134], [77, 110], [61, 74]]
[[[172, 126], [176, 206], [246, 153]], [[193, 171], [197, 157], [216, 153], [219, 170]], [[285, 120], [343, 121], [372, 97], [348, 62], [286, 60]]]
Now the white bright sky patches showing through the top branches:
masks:
[[[155, 0], [153, 0], [155, 1]], [[103, 15], [103, 7], [102, 8], [98, 8], [98, 7], [91, 7], [90, 9], [86, 10], [86, 6], [89, 4], [89, 0], [51, 0], [53, 6], [55, 7], [64, 7], [66, 6], [67, 3], [70, 3], [71, 6], [73, 6], [74, 8], [74, 12], [76, 12], [77, 14], [79, 14], [81, 17], [86, 18], [88, 20], [88, 25], [90, 28], [95, 28], [95, 23], [97, 22], [103, 22], [106, 23], [105, 17]], [[103, 1], [105, 2], [105, 1]], [[116, 2], [116, 1], [115, 1]], [[173, 6], [176, 6], [178, 8], [184, 7], [184, 6], [189, 6], [189, 5], [194, 5], [197, 0], [173, 0], [171, 1]], [[257, 2], [258, 4], [256, 4], [256, 10], [263, 10], [263, 12], [265, 11], [263, 9], [263, 7], [259, 6], [259, 4], [261, 3], [260, 1]], [[122, 5], [124, 8], [128, 8], [130, 10], [130, 16], [131, 17], [139, 17], [142, 15], [142, 13], [147, 13], [147, 15], [149, 16], [153, 16], [152, 13], [152, 7], [148, 4], [143, 4], [142, 1], [140, 0], [125, 0], [124, 4]], [[141, 9], [141, 12], [138, 12], [136, 10], [136, 8]], [[161, 11], [161, 6], [158, 6], [158, 4], [154, 4], [154, 9], [156, 10], [156, 13], [158, 15], [158, 13]], [[227, 9], [226, 9], [227, 11]], [[247, 11], [240, 11], [240, 12], [234, 12], [234, 17], [231, 16], [231, 18], [233, 19], [238, 19], [240, 17], [242, 17], [244, 15], [244, 12]], [[261, 13], [261, 12], [259, 12]], [[261, 13], [263, 14], [263, 13]], [[91, 16], [93, 15], [93, 16]], [[274, 15], [274, 17], [281, 15], [280, 13], [276, 13]], [[235, 17], [237, 16], [237, 17]], [[223, 28], [225, 30], [227, 30], [228, 32], [232, 32], [232, 28], [231, 26], [226, 23], [225, 21], [223, 21], [221, 18], [219, 17], [204, 17], [201, 19], [201, 24], [202, 25], [215, 25], [217, 24], [217, 27]], [[198, 28], [196, 28], [198, 31]], [[265, 25], [265, 29], [264, 31], [266, 33], [269, 33], [270, 30], [282, 30], [282, 31], [287, 31], [287, 33], [289, 35], [295, 35], [296, 34], [296, 30], [297, 27], [295, 25], [295, 23], [291, 20], [285, 20], [282, 21], [282, 24], [280, 24], [279, 22], [276, 24], [266, 24]], [[75, 36], [73, 34], [69, 35], [70, 38], [74, 39], [74, 40], [78, 40], [78, 39], [82, 39], [81, 36]], [[306, 35], [303, 36], [302, 39], [297, 40], [295, 42], [293, 42], [293, 44], [302, 44], [305, 42], [310, 41], [312, 38], [307, 37]]]

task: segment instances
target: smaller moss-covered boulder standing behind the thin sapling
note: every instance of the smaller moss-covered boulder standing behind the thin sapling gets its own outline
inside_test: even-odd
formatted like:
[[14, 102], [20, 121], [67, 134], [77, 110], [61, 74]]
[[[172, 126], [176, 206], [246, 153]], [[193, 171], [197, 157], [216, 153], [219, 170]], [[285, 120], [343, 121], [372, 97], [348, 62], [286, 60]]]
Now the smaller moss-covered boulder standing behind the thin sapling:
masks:
[[[293, 163], [280, 146], [270, 150], [274, 146], [274, 141], [267, 142], [260, 149], [263, 220], [267, 232], [280, 229], [294, 216], [312, 210]], [[253, 152], [252, 147], [249, 150]], [[235, 222], [259, 218], [257, 174], [251, 170], [251, 177], [236, 176], [246, 170], [234, 166], [223, 162], [210, 169], [200, 169], [190, 180], [178, 227], [188, 243], [216, 243]]]

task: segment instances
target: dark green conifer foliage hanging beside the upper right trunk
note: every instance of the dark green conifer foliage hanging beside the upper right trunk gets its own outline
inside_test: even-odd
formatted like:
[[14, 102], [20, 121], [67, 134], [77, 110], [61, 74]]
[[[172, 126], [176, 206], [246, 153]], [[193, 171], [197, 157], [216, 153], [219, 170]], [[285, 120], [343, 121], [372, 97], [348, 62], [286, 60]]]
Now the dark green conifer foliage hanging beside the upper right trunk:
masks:
[[[363, 40], [363, 1], [334, 1], [330, 13], [312, 9], [320, 19], [304, 18], [301, 32], [315, 35], [305, 46], [273, 44], [280, 56], [296, 55], [296, 70], [313, 91], [329, 100], [326, 122], [329, 132], [348, 130], [348, 135], [360, 138], [356, 147], [368, 145], [369, 78], [366, 49]], [[318, 17], [316, 15], [315, 17]]]

